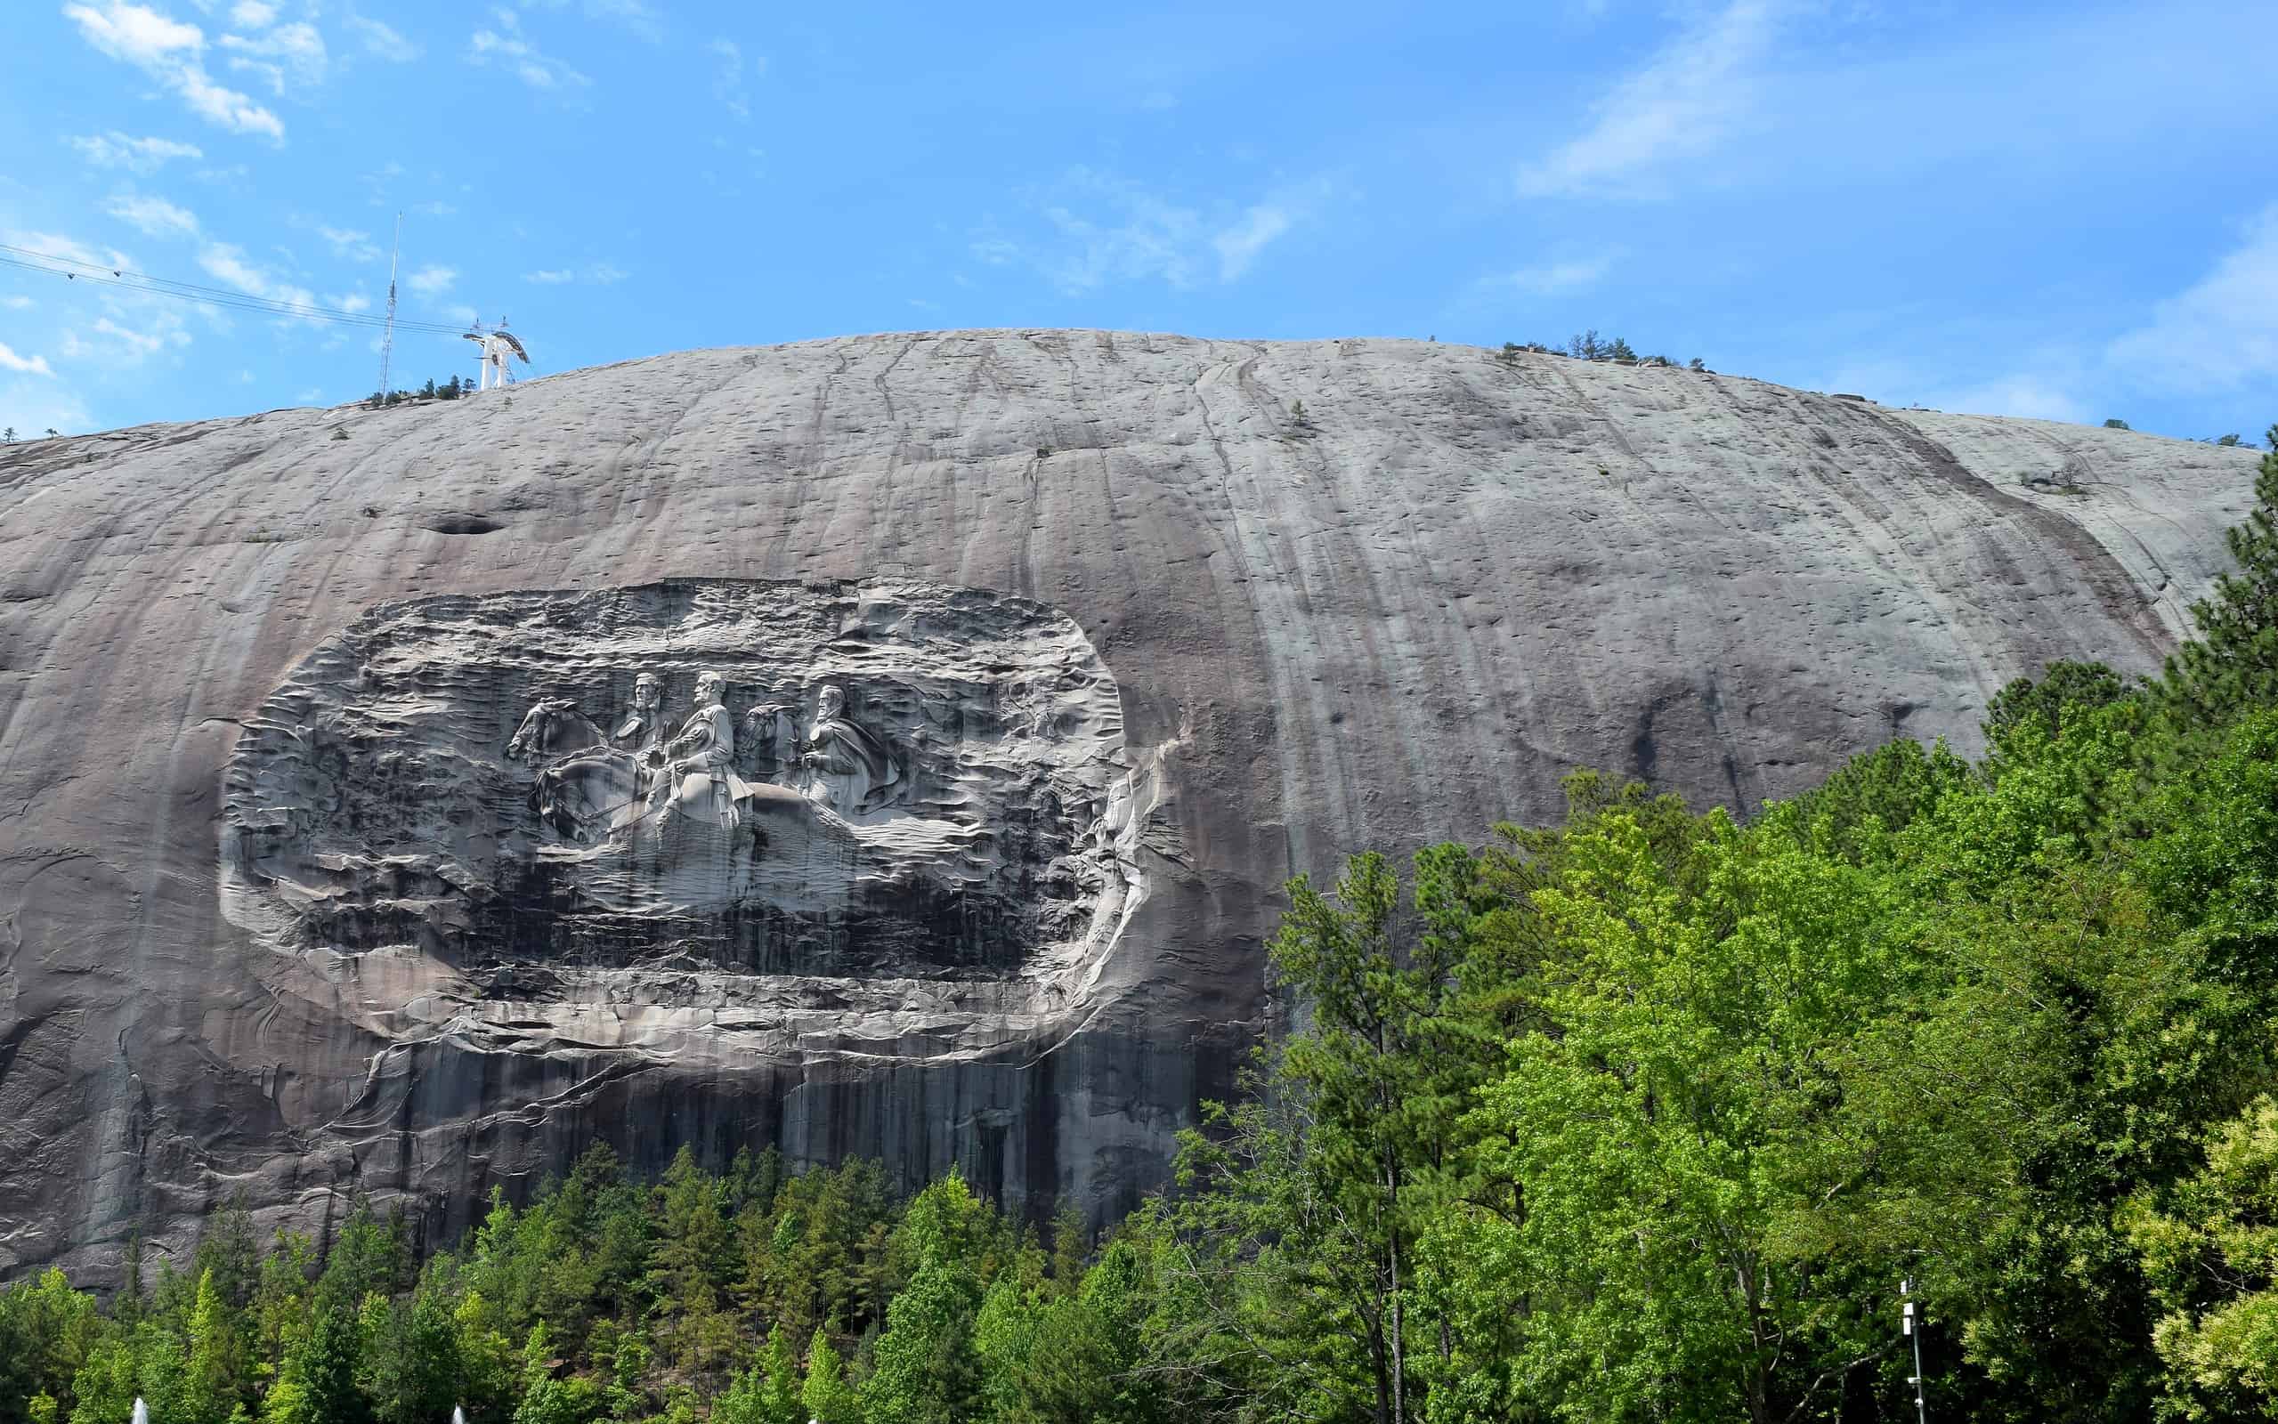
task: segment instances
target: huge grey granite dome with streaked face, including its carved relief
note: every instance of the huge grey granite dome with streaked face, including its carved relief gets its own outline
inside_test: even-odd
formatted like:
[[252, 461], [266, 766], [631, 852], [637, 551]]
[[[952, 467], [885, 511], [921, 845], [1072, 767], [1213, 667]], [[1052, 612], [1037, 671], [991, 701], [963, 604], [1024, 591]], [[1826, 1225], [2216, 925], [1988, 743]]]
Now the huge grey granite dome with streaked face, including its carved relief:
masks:
[[[1303, 415], [1298, 415], [1303, 408]], [[1112, 1212], [1280, 882], [2148, 670], [2253, 453], [936, 333], [0, 451], [0, 1274], [606, 1139]], [[647, 677], [647, 681], [642, 681]]]

